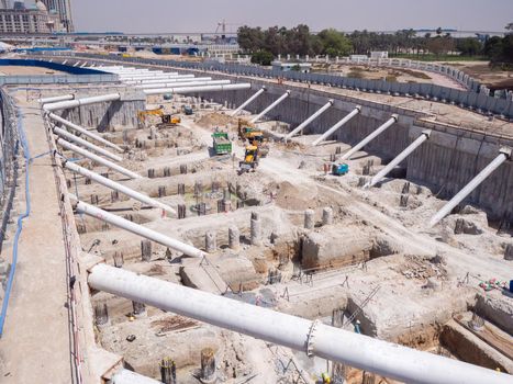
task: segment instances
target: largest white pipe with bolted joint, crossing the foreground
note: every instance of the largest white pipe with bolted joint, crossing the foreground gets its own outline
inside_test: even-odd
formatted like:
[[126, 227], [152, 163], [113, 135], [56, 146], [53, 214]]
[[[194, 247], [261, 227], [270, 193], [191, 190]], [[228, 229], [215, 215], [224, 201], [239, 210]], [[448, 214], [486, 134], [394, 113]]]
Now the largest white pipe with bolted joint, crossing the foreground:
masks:
[[506, 384], [511, 376], [208, 292], [97, 264], [89, 286], [406, 383]]

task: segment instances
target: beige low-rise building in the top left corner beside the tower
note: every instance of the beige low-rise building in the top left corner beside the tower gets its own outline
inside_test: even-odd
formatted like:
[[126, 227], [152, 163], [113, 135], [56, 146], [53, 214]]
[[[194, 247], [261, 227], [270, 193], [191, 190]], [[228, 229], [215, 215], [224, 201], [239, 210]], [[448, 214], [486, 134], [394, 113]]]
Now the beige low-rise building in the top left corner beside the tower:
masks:
[[36, 2], [35, 8], [0, 9], [0, 33], [34, 34], [62, 32], [63, 25], [58, 15], [48, 12], [45, 4]]

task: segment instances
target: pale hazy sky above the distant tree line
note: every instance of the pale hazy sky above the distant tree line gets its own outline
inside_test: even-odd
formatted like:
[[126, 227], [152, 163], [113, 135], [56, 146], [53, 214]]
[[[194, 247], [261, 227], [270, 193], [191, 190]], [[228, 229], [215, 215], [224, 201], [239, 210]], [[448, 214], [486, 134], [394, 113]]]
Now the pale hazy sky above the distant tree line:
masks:
[[[218, 22], [305, 23], [314, 31], [453, 27], [503, 31], [513, 0], [71, 0], [77, 31], [213, 32]], [[235, 31], [237, 25], [227, 25]]]

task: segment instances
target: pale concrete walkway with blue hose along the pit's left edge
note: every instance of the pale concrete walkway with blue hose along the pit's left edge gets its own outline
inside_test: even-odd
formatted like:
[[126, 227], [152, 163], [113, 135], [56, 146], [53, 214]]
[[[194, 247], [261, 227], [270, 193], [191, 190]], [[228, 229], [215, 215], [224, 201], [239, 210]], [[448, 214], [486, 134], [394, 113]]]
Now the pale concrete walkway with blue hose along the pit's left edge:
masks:
[[[20, 103], [32, 156], [48, 151], [36, 104]], [[18, 270], [0, 340], [2, 383], [73, 381], [68, 278], [59, 196], [48, 156], [30, 169], [32, 211], [23, 223]]]

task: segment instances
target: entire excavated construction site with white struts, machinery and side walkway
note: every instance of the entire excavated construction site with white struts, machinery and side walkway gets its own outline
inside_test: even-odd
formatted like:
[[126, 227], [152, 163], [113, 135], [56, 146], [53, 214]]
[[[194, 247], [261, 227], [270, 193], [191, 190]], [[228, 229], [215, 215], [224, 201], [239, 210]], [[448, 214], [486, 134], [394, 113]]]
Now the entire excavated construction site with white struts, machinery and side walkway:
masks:
[[18, 61], [1, 383], [512, 383], [511, 99]]

